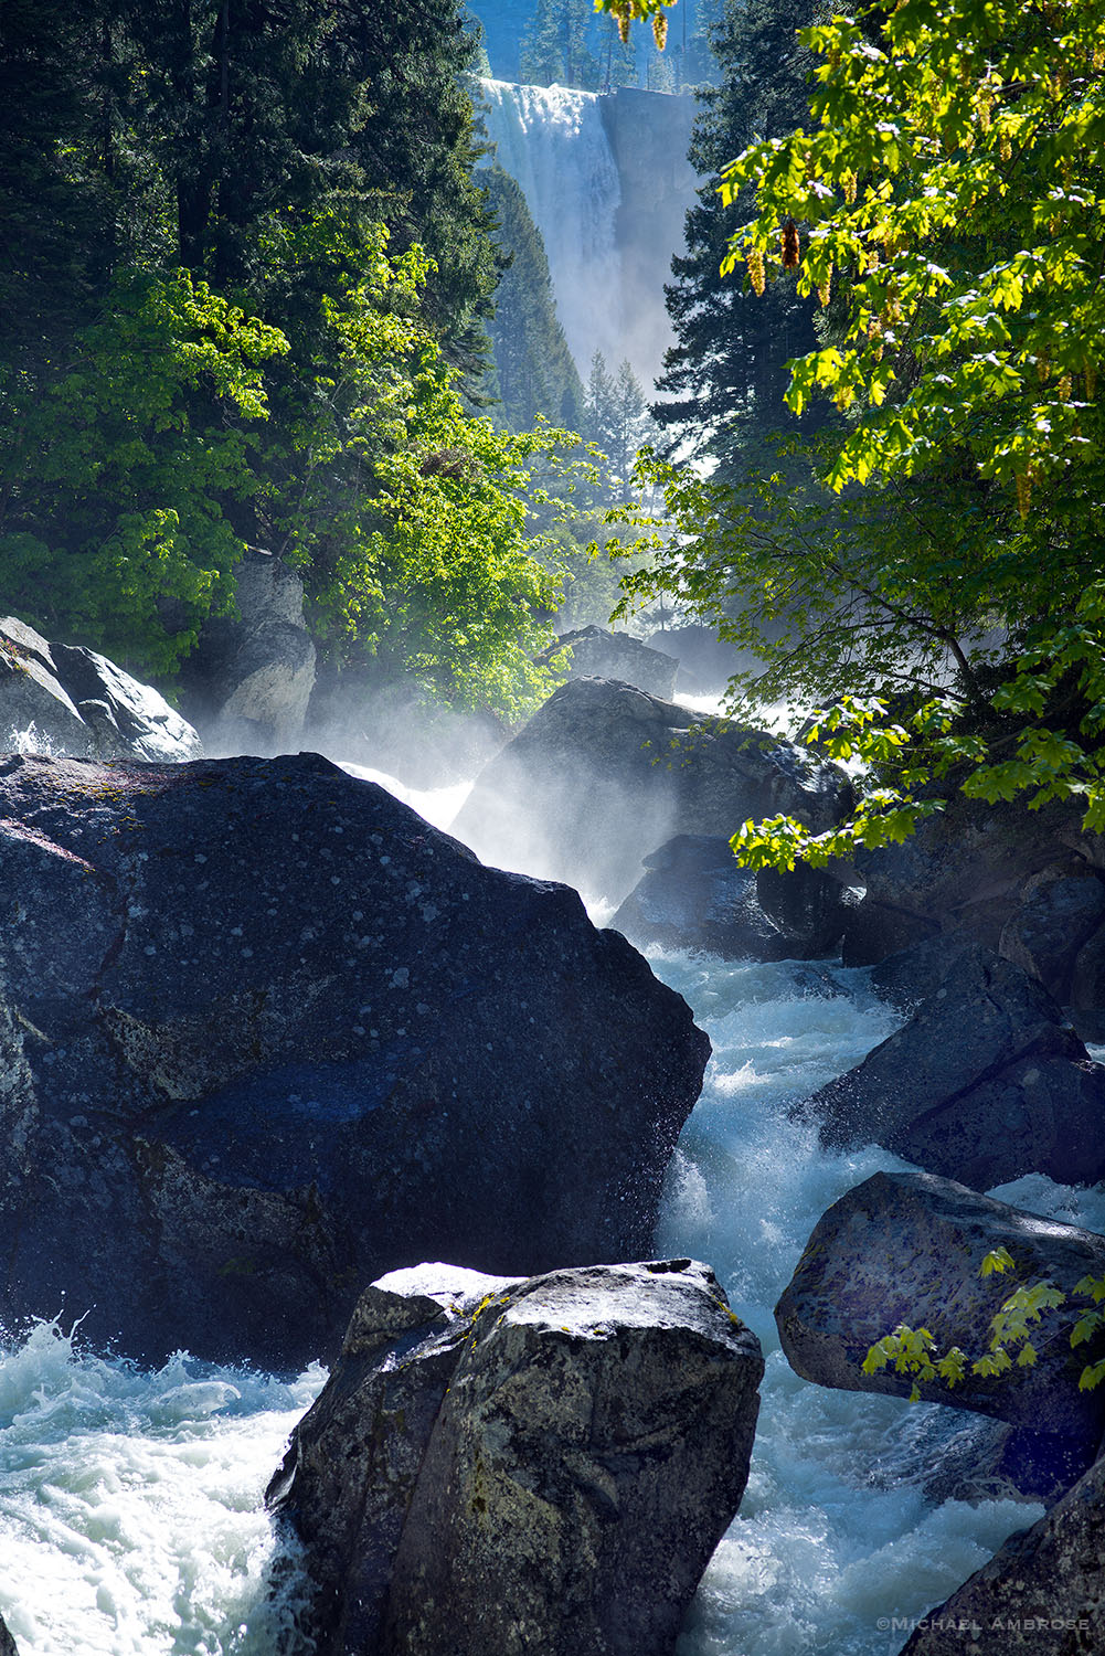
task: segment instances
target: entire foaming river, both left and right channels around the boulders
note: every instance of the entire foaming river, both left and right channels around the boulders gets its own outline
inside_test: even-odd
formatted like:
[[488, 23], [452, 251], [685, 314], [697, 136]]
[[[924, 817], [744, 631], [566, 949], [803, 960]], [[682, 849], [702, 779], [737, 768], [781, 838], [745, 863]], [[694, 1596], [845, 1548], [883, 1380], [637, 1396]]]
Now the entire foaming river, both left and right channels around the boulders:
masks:
[[[447, 820], [459, 802], [414, 803]], [[817, 1217], [870, 1172], [903, 1166], [878, 1149], [825, 1156], [787, 1105], [856, 1063], [895, 1013], [863, 972], [840, 967], [678, 954], [653, 967], [714, 1045], [656, 1252], [709, 1260], [767, 1356], [749, 1489], [679, 1656], [890, 1656], [913, 1618], [1042, 1510], [1001, 1490], [979, 1505], [929, 1500], [936, 1449], [987, 1423], [823, 1391], [779, 1351], [772, 1307]], [[1100, 1191], [1030, 1177], [999, 1194], [1105, 1229]], [[270, 1601], [285, 1562], [260, 1500], [323, 1378], [287, 1384], [186, 1356], [149, 1373], [83, 1351], [80, 1328], [60, 1325], [8, 1341], [0, 1611], [22, 1656], [308, 1656], [288, 1634], [293, 1568], [277, 1570]]]

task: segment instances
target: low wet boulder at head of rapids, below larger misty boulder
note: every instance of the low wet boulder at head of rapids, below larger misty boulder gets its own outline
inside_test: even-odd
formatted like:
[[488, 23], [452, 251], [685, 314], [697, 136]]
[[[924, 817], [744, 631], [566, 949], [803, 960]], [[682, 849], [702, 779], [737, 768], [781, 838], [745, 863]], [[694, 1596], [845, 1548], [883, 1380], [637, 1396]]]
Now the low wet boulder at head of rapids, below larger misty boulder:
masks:
[[644, 858], [644, 874], [610, 924], [639, 947], [808, 960], [833, 949], [845, 917], [840, 886], [820, 869], [754, 873], [727, 840], [676, 835]]

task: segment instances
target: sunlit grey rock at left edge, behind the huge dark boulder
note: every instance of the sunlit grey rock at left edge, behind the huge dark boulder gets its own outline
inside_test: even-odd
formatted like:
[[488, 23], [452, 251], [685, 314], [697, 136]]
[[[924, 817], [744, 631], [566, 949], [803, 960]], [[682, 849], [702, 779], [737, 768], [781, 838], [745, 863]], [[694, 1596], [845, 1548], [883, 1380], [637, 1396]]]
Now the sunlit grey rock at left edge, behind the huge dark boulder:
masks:
[[106, 656], [51, 644], [15, 616], [0, 621], [0, 752], [182, 763], [195, 730], [157, 691]]

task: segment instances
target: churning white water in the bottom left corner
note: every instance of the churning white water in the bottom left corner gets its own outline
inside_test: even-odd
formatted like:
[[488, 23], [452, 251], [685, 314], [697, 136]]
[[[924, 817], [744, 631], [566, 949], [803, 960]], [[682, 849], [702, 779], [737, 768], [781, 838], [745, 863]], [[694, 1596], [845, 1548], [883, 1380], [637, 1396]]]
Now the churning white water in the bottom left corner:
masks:
[[262, 1505], [325, 1374], [285, 1384], [81, 1355], [55, 1323], [0, 1355], [0, 1613], [20, 1656], [308, 1656]]

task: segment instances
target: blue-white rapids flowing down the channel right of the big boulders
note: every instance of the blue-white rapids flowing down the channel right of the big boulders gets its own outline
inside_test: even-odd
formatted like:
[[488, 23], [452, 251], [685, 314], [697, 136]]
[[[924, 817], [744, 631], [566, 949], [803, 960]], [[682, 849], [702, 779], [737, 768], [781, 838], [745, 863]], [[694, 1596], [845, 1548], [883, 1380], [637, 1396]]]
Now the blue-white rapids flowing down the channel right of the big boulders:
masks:
[[[807, 1384], [779, 1346], [772, 1307], [820, 1214], [870, 1174], [908, 1166], [873, 1144], [827, 1156], [789, 1105], [858, 1063], [900, 1018], [866, 972], [651, 959], [714, 1045], [669, 1171], [658, 1254], [709, 1260], [767, 1358], [749, 1487], [679, 1656], [891, 1656], [910, 1621], [1044, 1510], [1016, 1499], [933, 1504], [924, 1484], [941, 1451], [953, 1437], [969, 1451], [991, 1423]], [[1072, 1192], [1034, 1179], [1029, 1197]]]

